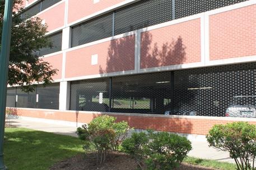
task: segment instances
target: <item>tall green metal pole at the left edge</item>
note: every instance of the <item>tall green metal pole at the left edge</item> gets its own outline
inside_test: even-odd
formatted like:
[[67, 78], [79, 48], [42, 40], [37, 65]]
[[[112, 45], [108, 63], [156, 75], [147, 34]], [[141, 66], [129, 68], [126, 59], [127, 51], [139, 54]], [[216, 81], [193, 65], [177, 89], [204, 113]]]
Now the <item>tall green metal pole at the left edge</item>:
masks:
[[13, 0], [5, 0], [0, 54], [0, 170], [6, 170], [3, 162], [4, 124], [6, 118], [6, 90], [10, 57]]

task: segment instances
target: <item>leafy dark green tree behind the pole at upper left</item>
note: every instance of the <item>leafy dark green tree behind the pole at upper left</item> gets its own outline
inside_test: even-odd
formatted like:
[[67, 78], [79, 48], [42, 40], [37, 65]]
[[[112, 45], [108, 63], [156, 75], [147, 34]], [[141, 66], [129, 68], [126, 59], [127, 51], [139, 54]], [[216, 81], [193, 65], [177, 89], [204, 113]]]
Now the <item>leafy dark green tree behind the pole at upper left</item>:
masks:
[[[43, 85], [52, 82], [57, 69], [36, 55], [41, 48], [51, 47], [45, 36], [47, 25], [38, 17], [22, 20], [19, 13], [23, 10], [22, 0], [13, 1], [13, 21], [11, 33], [10, 64], [8, 84], [19, 85], [24, 91], [34, 91], [36, 82]], [[15, 12], [16, 11], [16, 12]], [[0, 32], [3, 26], [4, 1], [0, 2]], [[0, 38], [1, 35], [0, 35]]]

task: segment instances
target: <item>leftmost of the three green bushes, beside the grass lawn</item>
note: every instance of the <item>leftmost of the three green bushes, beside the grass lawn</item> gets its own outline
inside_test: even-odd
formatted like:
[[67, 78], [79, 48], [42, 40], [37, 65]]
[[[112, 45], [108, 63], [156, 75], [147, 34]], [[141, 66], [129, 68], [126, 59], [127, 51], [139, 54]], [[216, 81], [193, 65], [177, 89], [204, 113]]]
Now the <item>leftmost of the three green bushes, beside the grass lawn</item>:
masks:
[[83, 148], [90, 150], [90, 145], [96, 149], [97, 163], [104, 163], [110, 150], [117, 150], [129, 131], [127, 122], [115, 123], [113, 116], [103, 115], [93, 119], [89, 125], [77, 128], [78, 138], [85, 140]]

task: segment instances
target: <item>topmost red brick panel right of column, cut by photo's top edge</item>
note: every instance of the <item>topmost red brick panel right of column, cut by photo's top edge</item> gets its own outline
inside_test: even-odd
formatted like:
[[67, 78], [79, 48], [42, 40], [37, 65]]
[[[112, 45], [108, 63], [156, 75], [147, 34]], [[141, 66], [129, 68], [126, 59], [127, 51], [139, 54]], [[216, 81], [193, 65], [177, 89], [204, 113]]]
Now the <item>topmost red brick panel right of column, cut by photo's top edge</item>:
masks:
[[93, 0], [71, 0], [68, 1], [68, 23], [79, 20], [80, 18], [89, 16], [95, 12], [111, 7], [125, 0], [100, 0], [94, 4]]

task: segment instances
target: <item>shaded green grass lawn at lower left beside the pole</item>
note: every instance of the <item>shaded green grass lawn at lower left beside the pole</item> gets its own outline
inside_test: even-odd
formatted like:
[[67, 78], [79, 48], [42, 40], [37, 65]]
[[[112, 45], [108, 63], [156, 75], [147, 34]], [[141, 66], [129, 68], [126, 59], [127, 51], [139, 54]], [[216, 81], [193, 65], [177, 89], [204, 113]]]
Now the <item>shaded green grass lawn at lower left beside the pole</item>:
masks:
[[4, 163], [10, 170], [47, 170], [52, 164], [83, 153], [82, 140], [25, 128], [6, 128]]

